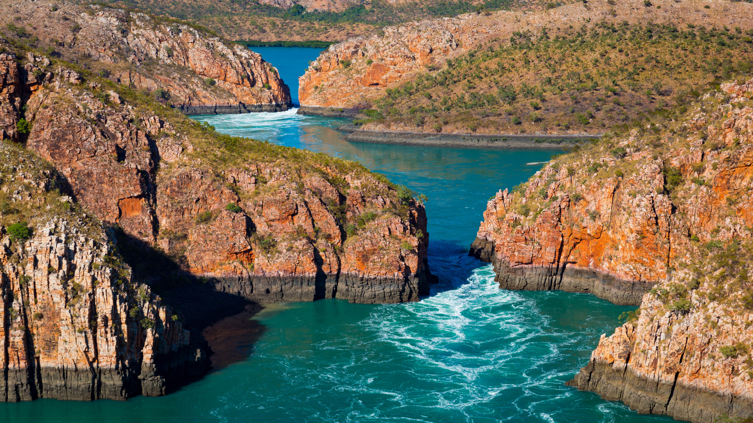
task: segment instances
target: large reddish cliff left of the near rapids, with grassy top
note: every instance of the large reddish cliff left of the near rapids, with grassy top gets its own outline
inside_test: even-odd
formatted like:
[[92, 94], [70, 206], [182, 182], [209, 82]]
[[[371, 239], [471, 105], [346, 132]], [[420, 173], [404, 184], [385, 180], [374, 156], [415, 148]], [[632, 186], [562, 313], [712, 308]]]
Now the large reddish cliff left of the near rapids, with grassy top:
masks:
[[[428, 293], [425, 210], [410, 190], [358, 164], [221, 135], [38, 55], [2, 58], [5, 101], [17, 110], [5, 133], [53, 163], [136, 250], [258, 302]], [[21, 111], [27, 134], [13, 123]]]

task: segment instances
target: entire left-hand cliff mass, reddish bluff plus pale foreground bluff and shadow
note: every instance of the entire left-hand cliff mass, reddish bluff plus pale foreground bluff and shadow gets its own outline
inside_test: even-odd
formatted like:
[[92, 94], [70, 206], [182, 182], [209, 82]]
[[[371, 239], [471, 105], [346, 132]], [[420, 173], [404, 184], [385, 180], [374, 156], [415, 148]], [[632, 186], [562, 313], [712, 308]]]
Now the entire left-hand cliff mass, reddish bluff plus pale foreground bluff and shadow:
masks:
[[40, 44], [0, 40], [5, 400], [165, 394], [206, 371], [197, 330], [221, 304], [428, 294], [409, 189], [223, 135], [114, 81], [126, 63]]

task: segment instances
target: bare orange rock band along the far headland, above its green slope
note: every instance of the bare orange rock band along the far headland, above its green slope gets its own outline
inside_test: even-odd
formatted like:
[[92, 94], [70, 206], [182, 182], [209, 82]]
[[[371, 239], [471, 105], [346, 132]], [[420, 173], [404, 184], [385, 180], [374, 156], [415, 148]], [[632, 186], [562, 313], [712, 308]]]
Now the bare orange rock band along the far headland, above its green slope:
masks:
[[[725, 5], [724, 10], [710, 9], [704, 14], [699, 14], [698, 10], [706, 3], [694, 0], [657, 5], [663, 7], [649, 8], [636, 1], [617, 5], [573, 3], [550, 11], [462, 14], [386, 26], [383, 35], [351, 38], [322, 51], [299, 78], [299, 112], [328, 115], [333, 110], [344, 109], [355, 115], [360, 109], [372, 108], [374, 100], [384, 97], [388, 88], [400, 87], [419, 74], [442, 69], [448, 59], [471, 51], [480, 52], [486, 48], [486, 43], [514, 38], [521, 33], [542, 41], [549, 37], [547, 30], [553, 34], [555, 27], [582, 27], [586, 31], [600, 23], [614, 26], [622, 22], [644, 24], [649, 21], [683, 27], [691, 24], [751, 28], [747, 17], [753, 8], [742, 3]], [[598, 68], [594, 72], [596, 70]], [[364, 129], [401, 131], [405, 126], [416, 130], [414, 125], [404, 122], [383, 121], [366, 124]], [[464, 129], [457, 128], [459, 132]]]

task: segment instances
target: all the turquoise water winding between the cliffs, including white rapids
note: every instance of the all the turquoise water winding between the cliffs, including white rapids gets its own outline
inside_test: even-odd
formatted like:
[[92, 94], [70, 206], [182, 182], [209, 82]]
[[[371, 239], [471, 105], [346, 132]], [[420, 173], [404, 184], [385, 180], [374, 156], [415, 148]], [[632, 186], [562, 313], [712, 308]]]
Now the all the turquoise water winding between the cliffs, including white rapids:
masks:
[[[291, 90], [319, 52], [259, 50]], [[264, 331], [247, 359], [166, 397], [0, 403], [0, 421], [671, 421], [563, 385], [630, 308], [585, 294], [498, 290], [490, 266], [466, 255], [489, 196], [557, 151], [348, 143], [334, 129], [342, 120], [294, 112], [197, 118], [359, 161], [428, 195], [430, 265], [441, 283], [410, 304], [271, 305], [252, 317]]]

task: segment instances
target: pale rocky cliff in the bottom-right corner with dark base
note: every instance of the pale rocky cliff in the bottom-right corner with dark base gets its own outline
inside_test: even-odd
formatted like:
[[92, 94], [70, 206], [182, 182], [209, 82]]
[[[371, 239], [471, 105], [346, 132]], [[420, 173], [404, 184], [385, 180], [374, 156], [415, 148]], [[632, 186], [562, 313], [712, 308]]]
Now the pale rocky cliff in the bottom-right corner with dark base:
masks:
[[602, 335], [567, 385], [679, 420], [749, 418], [751, 245], [701, 249], [681, 263], [645, 294], [638, 316]]

